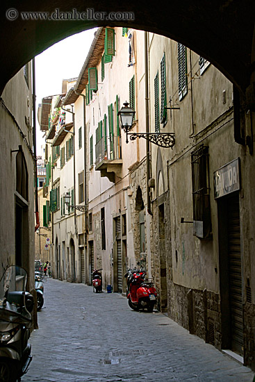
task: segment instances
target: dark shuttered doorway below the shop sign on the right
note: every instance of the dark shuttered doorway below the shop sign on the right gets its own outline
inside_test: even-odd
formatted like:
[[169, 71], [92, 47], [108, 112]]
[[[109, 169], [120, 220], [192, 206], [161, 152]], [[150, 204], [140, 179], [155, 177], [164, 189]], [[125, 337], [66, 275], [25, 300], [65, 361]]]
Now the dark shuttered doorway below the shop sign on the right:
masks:
[[242, 256], [239, 194], [218, 200], [222, 349], [243, 356]]

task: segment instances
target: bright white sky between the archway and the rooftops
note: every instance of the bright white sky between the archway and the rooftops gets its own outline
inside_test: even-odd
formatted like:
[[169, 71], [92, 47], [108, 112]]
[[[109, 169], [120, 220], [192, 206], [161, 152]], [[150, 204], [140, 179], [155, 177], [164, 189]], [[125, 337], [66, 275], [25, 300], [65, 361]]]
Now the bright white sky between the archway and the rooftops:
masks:
[[79, 76], [90, 50], [97, 28], [90, 29], [52, 45], [35, 57], [36, 93], [36, 151], [42, 155], [41, 145], [45, 143], [44, 133], [40, 131], [37, 114], [43, 97], [60, 94], [62, 80]]

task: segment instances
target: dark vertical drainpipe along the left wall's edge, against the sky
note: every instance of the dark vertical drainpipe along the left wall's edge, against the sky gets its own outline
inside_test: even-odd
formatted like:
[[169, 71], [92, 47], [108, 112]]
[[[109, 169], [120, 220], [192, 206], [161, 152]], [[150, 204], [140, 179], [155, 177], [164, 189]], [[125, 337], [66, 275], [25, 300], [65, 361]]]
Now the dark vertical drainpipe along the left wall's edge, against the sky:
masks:
[[34, 176], [35, 176], [35, 231], [40, 227], [39, 220], [39, 208], [38, 208], [38, 166], [36, 158], [36, 132], [35, 132], [35, 58], [32, 60], [32, 72], [33, 72], [33, 156], [34, 156]]

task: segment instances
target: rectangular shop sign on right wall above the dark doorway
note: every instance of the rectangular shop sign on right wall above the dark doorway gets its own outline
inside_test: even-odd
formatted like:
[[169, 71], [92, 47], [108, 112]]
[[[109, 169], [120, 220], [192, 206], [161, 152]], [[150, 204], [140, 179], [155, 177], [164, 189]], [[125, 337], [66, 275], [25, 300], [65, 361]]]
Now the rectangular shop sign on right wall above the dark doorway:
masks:
[[213, 173], [215, 199], [240, 190], [239, 167], [239, 158], [237, 158]]

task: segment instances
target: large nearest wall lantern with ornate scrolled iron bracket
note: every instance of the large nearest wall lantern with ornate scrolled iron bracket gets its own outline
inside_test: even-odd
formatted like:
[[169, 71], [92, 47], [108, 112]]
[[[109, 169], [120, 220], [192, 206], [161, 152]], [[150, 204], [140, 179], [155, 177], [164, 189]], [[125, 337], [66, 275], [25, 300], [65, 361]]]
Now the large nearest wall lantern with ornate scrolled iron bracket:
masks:
[[126, 143], [129, 143], [128, 135], [130, 135], [130, 140], [136, 140], [136, 138], [145, 138], [157, 146], [171, 147], [171, 149], [174, 147], [174, 133], [129, 133], [130, 128], [133, 126], [133, 117], [135, 115], [135, 111], [129, 107], [128, 102], [124, 103], [124, 106], [122, 106], [117, 115], [120, 115], [121, 127], [126, 133]]

